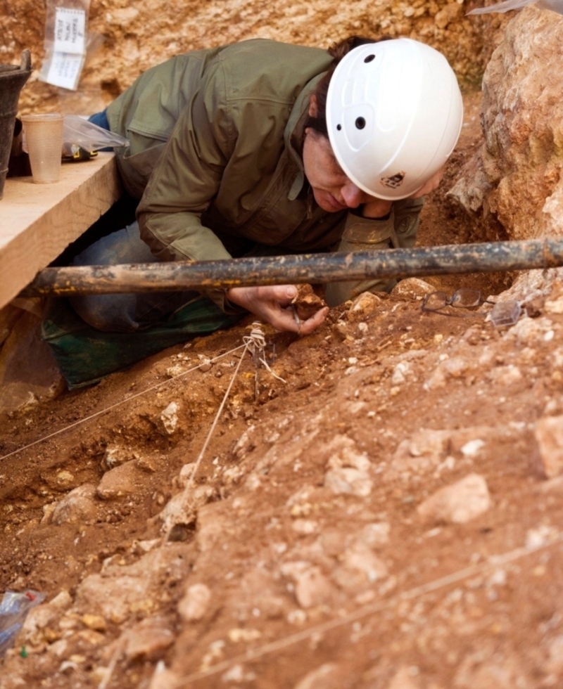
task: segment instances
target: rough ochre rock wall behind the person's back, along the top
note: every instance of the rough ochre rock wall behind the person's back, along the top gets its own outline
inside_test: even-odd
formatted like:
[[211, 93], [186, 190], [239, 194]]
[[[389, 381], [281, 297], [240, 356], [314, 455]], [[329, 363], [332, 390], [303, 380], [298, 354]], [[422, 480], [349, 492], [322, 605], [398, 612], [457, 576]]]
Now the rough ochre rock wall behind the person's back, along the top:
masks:
[[[465, 84], [479, 84], [502, 37], [506, 15], [465, 17], [469, 0], [92, 0], [89, 30], [97, 35], [79, 90], [56, 89], [34, 72], [20, 110], [95, 112], [148, 67], [190, 49], [256, 37], [328, 46], [350, 34], [421, 39], [445, 53]], [[45, 6], [39, 0], [0, 0], [0, 61], [18, 63], [30, 48], [43, 58]]]

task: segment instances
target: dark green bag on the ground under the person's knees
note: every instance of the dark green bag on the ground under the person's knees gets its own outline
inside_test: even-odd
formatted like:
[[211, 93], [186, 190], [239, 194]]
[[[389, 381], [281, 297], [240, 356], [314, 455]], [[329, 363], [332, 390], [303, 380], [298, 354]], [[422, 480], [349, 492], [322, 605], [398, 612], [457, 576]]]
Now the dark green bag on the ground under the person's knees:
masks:
[[228, 328], [246, 314], [227, 316], [208, 297], [184, 304], [159, 323], [137, 333], [103, 333], [88, 325], [65, 299], [49, 302], [42, 340], [49, 345], [69, 389], [99, 382], [146, 356], [186, 342], [195, 335]]

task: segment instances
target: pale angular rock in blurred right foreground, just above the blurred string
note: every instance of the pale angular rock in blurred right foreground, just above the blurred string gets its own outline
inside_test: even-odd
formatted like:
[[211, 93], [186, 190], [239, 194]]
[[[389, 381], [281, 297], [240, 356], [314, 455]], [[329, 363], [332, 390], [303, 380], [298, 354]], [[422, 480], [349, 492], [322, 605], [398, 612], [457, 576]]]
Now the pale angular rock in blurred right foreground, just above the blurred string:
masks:
[[467, 524], [483, 514], [491, 506], [485, 479], [479, 474], [469, 474], [461, 481], [442, 488], [417, 509], [428, 522]]

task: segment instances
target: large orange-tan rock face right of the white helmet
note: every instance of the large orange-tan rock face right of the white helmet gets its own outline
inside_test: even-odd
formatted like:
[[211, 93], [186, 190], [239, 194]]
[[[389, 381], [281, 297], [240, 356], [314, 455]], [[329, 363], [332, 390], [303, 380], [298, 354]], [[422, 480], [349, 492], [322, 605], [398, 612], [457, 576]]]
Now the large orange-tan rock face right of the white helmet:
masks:
[[530, 6], [483, 77], [485, 140], [450, 197], [512, 239], [563, 236], [563, 17]]

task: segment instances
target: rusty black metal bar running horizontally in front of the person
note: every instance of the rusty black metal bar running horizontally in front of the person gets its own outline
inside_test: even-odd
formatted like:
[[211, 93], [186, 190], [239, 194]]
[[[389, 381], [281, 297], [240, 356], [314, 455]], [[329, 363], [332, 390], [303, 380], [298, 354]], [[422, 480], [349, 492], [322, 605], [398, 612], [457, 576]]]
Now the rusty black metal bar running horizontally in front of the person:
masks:
[[20, 296], [228, 289], [556, 266], [563, 266], [563, 240], [546, 238], [222, 261], [46, 268]]

